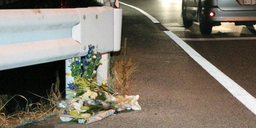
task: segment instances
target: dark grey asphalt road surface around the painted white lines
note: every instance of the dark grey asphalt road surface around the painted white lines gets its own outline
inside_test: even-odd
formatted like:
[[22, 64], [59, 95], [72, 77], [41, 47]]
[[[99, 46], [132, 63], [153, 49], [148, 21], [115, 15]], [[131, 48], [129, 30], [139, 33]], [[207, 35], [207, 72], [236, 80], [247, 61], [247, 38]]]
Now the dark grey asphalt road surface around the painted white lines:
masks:
[[[168, 3], [169, 7], [164, 7], [167, 3], [160, 0], [120, 1], [142, 9], [162, 24], [182, 25], [180, 4]], [[51, 118], [24, 127], [256, 127], [255, 114], [171, 39], [164, 32], [168, 29], [154, 24], [134, 8], [120, 6], [123, 9], [122, 42], [127, 38], [126, 55], [138, 66], [131, 79], [136, 86], [130, 89], [129, 95], [140, 95], [142, 110], [112, 115], [86, 125]], [[209, 36], [200, 35], [197, 24], [189, 31], [171, 32], [255, 97], [255, 40], [241, 38], [255, 37], [255, 34], [232, 23], [222, 26], [225, 30], [216, 30]], [[234, 37], [241, 39], [233, 40]], [[191, 38], [195, 41], [189, 40]], [[198, 41], [201, 38], [206, 41]], [[233, 39], [209, 41], [215, 38]], [[121, 49], [120, 54], [123, 52]]]

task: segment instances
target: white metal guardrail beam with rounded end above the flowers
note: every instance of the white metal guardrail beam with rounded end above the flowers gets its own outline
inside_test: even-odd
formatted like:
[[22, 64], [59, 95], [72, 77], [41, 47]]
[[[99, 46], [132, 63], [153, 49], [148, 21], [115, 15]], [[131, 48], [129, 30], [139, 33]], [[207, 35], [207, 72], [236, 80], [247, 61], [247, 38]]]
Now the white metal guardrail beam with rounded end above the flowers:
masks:
[[121, 22], [112, 7], [0, 10], [0, 70], [119, 51]]

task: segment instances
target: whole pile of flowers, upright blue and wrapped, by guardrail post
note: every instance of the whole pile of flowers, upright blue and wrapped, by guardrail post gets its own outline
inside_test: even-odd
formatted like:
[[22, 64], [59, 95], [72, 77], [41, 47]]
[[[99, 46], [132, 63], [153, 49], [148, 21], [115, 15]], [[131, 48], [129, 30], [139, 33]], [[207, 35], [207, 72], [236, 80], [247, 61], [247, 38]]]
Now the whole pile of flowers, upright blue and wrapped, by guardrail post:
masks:
[[[92, 123], [112, 115], [116, 111], [141, 110], [139, 95], [123, 96], [112, 93], [107, 85], [98, 85], [93, 81], [100, 63], [101, 54], [89, 45], [88, 54], [70, 61], [74, 81], [69, 83], [69, 100], [61, 102], [62, 121]], [[105, 83], [106, 81], [102, 81]]]

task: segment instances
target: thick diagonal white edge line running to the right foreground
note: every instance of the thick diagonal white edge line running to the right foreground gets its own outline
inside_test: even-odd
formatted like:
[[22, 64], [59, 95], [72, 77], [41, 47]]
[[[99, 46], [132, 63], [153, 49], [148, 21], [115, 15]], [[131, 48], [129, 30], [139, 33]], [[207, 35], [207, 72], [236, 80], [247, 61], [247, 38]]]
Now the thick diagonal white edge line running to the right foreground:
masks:
[[171, 31], [164, 31], [171, 39], [173, 39], [191, 58], [200, 64], [211, 76], [213, 76], [223, 87], [225, 87], [235, 98], [242, 102], [250, 111], [256, 115], [256, 99], [245, 89], [240, 87], [236, 82], [223, 74], [217, 67], [204, 59], [199, 53], [191, 48], [187, 43], [182, 41]]

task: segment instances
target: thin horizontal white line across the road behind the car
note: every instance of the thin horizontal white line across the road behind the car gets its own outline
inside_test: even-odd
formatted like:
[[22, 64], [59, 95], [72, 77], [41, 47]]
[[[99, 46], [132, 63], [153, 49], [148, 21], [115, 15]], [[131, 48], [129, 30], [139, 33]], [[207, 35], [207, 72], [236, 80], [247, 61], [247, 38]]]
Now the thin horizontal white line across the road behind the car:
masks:
[[233, 37], [233, 38], [181, 38], [183, 41], [220, 41], [220, 40], [250, 40], [256, 37]]

